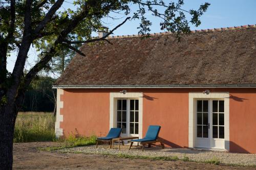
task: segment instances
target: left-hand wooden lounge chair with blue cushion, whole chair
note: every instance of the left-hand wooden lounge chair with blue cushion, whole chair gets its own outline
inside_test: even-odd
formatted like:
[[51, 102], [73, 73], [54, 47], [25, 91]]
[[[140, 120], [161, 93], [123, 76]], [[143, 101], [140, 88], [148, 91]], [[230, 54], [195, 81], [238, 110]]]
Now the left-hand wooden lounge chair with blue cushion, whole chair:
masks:
[[113, 138], [117, 138], [120, 137], [122, 132], [122, 128], [111, 128], [108, 135], [106, 135], [106, 137], [99, 137], [97, 138], [97, 144], [96, 144], [96, 148], [98, 148], [98, 144], [100, 142], [102, 143], [109, 143], [110, 144], [110, 148], [112, 146], [112, 139]]

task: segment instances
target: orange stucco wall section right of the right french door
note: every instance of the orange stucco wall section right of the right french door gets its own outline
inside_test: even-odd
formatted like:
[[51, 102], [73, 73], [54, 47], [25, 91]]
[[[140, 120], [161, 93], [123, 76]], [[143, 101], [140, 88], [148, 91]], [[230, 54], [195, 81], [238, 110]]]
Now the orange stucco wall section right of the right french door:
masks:
[[256, 89], [231, 90], [230, 152], [256, 153]]

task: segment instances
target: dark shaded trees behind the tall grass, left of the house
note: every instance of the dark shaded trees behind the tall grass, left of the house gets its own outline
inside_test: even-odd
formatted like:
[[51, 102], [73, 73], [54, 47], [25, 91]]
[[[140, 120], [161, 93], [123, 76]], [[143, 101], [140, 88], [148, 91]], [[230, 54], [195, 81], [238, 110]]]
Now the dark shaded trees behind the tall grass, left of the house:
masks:
[[54, 79], [38, 76], [25, 92], [25, 99], [20, 111], [53, 112], [56, 89], [52, 89]]

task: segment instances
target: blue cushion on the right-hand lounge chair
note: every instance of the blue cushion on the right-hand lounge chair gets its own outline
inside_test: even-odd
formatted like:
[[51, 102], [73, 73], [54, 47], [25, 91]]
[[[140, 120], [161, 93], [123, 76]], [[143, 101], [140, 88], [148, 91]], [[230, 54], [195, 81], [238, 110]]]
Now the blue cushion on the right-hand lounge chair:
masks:
[[150, 125], [147, 129], [146, 136], [142, 139], [134, 139], [132, 142], [144, 142], [157, 140], [161, 126]]

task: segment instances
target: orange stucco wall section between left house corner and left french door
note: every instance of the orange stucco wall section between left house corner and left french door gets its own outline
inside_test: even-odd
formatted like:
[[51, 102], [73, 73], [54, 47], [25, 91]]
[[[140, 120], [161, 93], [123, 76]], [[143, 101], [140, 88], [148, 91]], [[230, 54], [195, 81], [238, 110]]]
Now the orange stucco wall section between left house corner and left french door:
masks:
[[95, 92], [84, 89], [66, 89], [60, 96], [63, 108], [63, 122], [60, 128], [63, 134], [69, 136], [72, 133], [90, 136], [106, 135], [109, 131], [109, 92]]

